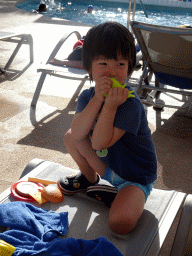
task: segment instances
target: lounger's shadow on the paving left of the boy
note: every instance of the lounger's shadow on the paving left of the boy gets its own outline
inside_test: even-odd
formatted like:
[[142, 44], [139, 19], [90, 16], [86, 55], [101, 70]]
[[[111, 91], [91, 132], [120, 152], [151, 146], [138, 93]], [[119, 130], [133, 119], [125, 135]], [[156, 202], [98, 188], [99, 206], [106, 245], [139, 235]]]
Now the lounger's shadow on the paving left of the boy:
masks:
[[76, 109], [77, 97], [83, 87], [80, 83], [67, 107], [63, 110], [56, 110], [40, 121], [36, 120], [36, 107], [30, 108], [30, 120], [35, 129], [26, 137], [17, 142], [21, 145], [30, 145], [40, 148], [67, 153], [63, 143], [65, 133], [71, 127], [71, 122]]

